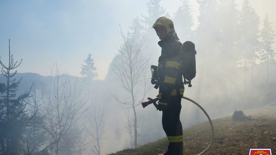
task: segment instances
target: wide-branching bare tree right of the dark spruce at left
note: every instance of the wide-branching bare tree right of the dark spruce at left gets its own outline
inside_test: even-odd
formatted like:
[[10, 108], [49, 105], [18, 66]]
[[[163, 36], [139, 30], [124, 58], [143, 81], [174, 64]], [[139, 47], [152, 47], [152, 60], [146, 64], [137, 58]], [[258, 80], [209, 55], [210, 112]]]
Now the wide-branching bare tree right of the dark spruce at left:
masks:
[[[57, 69], [57, 67], [56, 67]], [[84, 117], [86, 97], [81, 98], [81, 93], [76, 94], [76, 87], [68, 80], [59, 79], [59, 71], [56, 70], [55, 77], [51, 76], [50, 86], [43, 85], [43, 104], [39, 111], [41, 124], [47, 131], [55, 145], [55, 153], [58, 155], [58, 144], [69, 129], [79, 119]], [[47, 147], [49, 147], [47, 146]]]

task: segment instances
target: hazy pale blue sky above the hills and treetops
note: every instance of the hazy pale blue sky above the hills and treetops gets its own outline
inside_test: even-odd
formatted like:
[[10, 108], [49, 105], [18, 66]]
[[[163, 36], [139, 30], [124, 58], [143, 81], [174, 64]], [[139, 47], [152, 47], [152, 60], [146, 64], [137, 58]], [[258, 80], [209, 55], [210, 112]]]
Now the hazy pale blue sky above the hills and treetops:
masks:
[[[127, 32], [133, 18], [147, 15], [147, 1], [0, 0], [1, 61], [7, 62], [8, 39], [11, 39], [14, 59], [23, 59], [17, 69], [20, 73], [47, 75], [57, 62], [61, 72], [81, 76], [81, 64], [91, 53], [98, 79], [104, 79], [121, 43], [119, 24]], [[276, 32], [276, 1], [251, 0], [250, 3], [260, 16], [260, 28], [267, 12]], [[179, 0], [161, 0], [171, 16], [180, 4]], [[191, 0], [191, 5], [196, 21], [199, 15], [196, 0]]]

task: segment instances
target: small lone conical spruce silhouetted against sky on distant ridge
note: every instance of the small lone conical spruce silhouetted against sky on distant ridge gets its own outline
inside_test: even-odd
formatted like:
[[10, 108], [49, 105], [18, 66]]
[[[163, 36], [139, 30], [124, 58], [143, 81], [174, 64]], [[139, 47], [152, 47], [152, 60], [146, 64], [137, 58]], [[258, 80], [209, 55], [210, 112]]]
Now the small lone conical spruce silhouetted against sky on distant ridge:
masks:
[[82, 65], [83, 67], [81, 67], [81, 75], [86, 79], [86, 81], [93, 80], [98, 76], [97, 72], [95, 72], [97, 68], [94, 66], [94, 59], [92, 59], [91, 56], [92, 55], [89, 53], [84, 60], [85, 65]]

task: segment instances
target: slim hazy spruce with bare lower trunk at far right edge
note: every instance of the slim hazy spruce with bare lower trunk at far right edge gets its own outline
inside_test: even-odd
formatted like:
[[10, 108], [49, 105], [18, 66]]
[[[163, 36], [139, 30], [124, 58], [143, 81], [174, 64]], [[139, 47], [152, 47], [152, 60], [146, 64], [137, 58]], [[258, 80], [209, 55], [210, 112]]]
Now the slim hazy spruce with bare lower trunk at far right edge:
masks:
[[271, 22], [269, 22], [268, 14], [266, 13], [264, 18], [264, 28], [261, 31], [261, 49], [260, 49], [260, 60], [262, 63], [267, 63], [267, 84], [268, 84], [268, 73], [269, 73], [269, 62], [274, 62], [275, 52], [271, 48], [271, 44], [274, 43], [274, 31], [271, 27]]

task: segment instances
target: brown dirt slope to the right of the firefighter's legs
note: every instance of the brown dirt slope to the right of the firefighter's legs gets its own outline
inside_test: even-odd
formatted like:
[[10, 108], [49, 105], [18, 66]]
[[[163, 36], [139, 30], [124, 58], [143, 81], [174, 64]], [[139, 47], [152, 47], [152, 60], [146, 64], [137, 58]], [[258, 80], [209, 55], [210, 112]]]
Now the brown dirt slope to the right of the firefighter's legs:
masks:
[[[246, 110], [251, 121], [233, 121], [232, 117], [213, 120], [214, 143], [206, 155], [247, 155], [249, 148], [272, 148], [276, 154], [276, 103]], [[209, 122], [184, 132], [184, 154], [196, 155], [210, 143]], [[160, 150], [163, 152], [165, 150]]]

